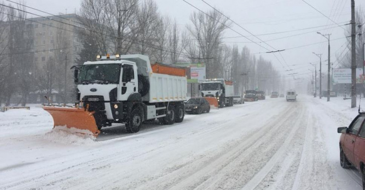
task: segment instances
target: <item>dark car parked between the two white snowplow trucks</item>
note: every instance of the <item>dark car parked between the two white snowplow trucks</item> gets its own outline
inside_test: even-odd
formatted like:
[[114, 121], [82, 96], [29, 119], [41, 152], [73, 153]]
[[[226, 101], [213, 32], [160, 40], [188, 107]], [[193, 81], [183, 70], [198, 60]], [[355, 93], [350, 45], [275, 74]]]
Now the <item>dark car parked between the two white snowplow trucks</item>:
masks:
[[201, 114], [203, 112], [209, 113], [209, 111], [209, 102], [203, 97], [192, 97], [185, 104], [185, 113]]

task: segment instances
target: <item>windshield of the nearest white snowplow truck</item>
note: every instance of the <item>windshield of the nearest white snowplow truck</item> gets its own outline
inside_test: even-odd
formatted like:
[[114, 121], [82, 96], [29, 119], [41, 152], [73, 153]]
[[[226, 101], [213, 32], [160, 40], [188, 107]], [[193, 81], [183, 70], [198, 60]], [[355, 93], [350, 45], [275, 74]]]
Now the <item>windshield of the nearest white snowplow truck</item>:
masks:
[[121, 64], [84, 65], [79, 75], [79, 83], [118, 84]]

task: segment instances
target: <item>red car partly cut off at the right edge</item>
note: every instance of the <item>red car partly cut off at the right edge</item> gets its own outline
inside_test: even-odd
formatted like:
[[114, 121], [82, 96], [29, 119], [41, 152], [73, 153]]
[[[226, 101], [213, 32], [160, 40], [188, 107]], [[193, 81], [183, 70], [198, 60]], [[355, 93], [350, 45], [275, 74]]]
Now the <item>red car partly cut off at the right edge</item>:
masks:
[[360, 113], [351, 122], [350, 126], [340, 127], [340, 163], [342, 168], [353, 166], [363, 176], [365, 190], [365, 113]]

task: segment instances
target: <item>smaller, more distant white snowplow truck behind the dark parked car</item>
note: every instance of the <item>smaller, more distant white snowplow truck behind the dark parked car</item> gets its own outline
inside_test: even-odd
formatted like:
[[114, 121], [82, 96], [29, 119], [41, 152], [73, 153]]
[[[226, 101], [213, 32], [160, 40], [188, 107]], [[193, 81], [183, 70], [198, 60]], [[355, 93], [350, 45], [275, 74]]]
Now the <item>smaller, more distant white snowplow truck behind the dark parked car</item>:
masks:
[[[214, 97], [218, 101], [219, 108], [233, 106], [234, 88], [233, 82], [223, 78], [206, 79], [200, 85], [202, 97]], [[211, 101], [209, 101], [211, 102]]]

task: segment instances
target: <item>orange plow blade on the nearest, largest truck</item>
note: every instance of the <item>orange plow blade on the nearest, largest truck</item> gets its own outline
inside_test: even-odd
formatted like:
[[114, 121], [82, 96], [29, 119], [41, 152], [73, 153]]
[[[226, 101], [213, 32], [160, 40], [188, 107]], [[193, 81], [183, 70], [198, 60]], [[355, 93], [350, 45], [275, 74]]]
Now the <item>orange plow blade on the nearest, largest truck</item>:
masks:
[[100, 133], [93, 116], [94, 112], [79, 108], [57, 108], [52, 106], [44, 106], [43, 109], [52, 115], [53, 128], [70, 133], [89, 134], [95, 137]]

